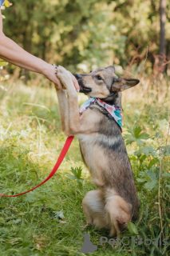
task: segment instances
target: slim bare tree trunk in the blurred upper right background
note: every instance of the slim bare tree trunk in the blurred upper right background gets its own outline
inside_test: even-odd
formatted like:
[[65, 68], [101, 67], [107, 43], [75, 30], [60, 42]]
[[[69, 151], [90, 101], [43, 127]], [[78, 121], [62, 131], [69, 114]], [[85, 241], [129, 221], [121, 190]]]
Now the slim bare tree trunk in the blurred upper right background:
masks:
[[165, 56], [165, 22], [166, 22], [166, 0], [160, 0], [160, 72], [164, 72], [165, 66], [164, 56]]

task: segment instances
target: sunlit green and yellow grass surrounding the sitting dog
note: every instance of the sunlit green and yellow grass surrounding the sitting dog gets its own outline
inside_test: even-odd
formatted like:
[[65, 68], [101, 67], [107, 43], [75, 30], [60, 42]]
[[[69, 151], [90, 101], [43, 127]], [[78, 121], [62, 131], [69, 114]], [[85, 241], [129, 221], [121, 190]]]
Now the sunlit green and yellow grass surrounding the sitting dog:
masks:
[[[144, 80], [143, 86], [123, 96], [124, 136], [140, 198], [140, 218], [130, 223], [122, 237], [133, 244], [113, 247], [100, 245], [106, 230], [85, 226], [81, 201], [95, 189], [81, 161], [77, 139], [53, 178], [37, 190], [17, 198], [0, 198], [0, 252], [10, 255], [76, 255], [89, 233], [98, 249], [93, 255], [168, 255], [170, 252], [170, 150], [168, 78]], [[36, 85], [35, 85], [36, 84]], [[17, 194], [36, 186], [52, 170], [65, 143], [61, 132], [55, 90], [42, 86], [45, 81], [3, 82], [0, 88], [0, 189], [1, 194]], [[80, 94], [80, 102], [85, 96]], [[149, 104], [148, 104], [149, 103]], [[72, 170], [82, 170], [73, 180]], [[73, 174], [72, 174], [73, 175]], [[82, 180], [81, 180], [82, 181]], [[167, 243], [144, 246], [139, 238], [162, 238]], [[74, 240], [77, 240], [74, 241]], [[149, 243], [149, 241], [148, 241]], [[85, 255], [85, 254], [81, 254]]]

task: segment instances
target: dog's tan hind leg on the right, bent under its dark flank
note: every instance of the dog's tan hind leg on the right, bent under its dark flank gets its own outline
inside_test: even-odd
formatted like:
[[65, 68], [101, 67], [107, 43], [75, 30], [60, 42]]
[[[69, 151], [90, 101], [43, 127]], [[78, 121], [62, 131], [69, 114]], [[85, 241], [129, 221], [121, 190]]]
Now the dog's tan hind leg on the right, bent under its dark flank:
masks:
[[105, 210], [111, 228], [109, 235], [119, 236], [121, 228], [124, 228], [131, 220], [131, 208], [128, 202], [125, 202], [119, 195], [113, 195], [107, 198]]

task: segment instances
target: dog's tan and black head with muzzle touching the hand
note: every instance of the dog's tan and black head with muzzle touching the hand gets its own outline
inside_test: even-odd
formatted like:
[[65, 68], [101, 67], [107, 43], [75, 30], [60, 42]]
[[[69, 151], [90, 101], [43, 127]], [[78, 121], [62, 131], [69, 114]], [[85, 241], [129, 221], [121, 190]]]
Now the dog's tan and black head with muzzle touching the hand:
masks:
[[114, 66], [93, 70], [89, 74], [76, 74], [80, 92], [90, 97], [102, 98], [105, 102], [121, 107], [121, 91], [140, 82], [133, 78], [118, 78]]

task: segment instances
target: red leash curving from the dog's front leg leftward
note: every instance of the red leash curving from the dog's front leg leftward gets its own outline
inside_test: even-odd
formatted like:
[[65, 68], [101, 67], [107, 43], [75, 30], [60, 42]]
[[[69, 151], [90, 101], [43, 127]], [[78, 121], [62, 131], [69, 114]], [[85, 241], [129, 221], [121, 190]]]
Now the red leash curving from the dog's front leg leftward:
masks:
[[[40, 183], [38, 186], [42, 186], [42, 184], [47, 182], [49, 180], [49, 178], [53, 177], [53, 174], [55, 174], [57, 172], [57, 170], [58, 170], [59, 166], [61, 165], [61, 162], [65, 158], [65, 154], [67, 154], [67, 151], [69, 150], [69, 146], [71, 145], [72, 142], [73, 142], [73, 136], [69, 136], [65, 142], [65, 146], [63, 146], [63, 149], [61, 150], [61, 154], [59, 155], [59, 158], [57, 159], [57, 162], [56, 162], [55, 166], [53, 167], [52, 172], [49, 174], [49, 176], [47, 178], [45, 178], [44, 182]], [[28, 190], [26, 192], [22, 192], [21, 194], [13, 194], [13, 195], [0, 194], [0, 195], [2, 197], [7, 197], [7, 198], [18, 197], [18, 195], [26, 194], [32, 190], [35, 190], [38, 186], [35, 186], [33, 189]]]

